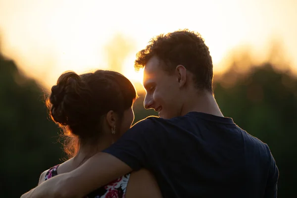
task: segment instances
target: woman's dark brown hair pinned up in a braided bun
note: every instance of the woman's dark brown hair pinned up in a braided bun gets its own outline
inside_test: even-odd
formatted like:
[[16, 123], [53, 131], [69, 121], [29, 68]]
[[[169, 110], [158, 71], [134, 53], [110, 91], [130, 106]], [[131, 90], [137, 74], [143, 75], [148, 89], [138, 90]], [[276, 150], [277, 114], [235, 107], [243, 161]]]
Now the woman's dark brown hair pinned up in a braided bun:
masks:
[[80, 145], [97, 143], [102, 116], [113, 110], [122, 117], [136, 98], [133, 84], [118, 72], [69, 71], [52, 86], [46, 105], [51, 119], [63, 129], [64, 151], [72, 157]]

